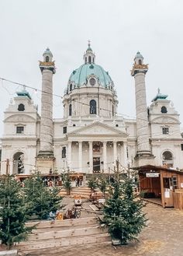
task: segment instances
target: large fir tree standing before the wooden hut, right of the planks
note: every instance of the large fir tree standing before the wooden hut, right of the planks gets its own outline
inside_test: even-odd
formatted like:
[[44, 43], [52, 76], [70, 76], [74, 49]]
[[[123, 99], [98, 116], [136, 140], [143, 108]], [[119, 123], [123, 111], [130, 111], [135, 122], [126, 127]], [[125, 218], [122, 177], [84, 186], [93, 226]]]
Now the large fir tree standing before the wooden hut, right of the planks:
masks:
[[104, 206], [104, 220], [109, 225], [109, 233], [119, 239], [121, 244], [137, 240], [137, 236], [146, 225], [146, 216], [142, 211], [143, 202], [133, 194], [133, 181], [129, 178], [113, 185], [112, 195]]

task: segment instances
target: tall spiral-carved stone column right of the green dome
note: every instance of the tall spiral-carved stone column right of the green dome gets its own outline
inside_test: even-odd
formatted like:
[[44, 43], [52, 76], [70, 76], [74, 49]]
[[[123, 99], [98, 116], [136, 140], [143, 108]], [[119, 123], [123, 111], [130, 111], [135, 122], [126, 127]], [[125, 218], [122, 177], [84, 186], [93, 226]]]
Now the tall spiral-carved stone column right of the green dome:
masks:
[[136, 90], [136, 165], [142, 166], [145, 164], [153, 164], [154, 156], [150, 150], [150, 132], [149, 121], [147, 117], [147, 99], [146, 99], [146, 84], [145, 75], [148, 71], [148, 65], [143, 64], [143, 56], [138, 51], [134, 58], [133, 69], [131, 75], [135, 79]]

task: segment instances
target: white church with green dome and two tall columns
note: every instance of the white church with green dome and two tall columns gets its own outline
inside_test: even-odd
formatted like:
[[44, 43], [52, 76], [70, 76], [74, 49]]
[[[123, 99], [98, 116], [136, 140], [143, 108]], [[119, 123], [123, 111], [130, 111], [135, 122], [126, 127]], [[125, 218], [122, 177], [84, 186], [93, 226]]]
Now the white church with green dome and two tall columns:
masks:
[[[88, 44], [84, 63], [71, 73], [64, 91], [64, 117], [53, 118], [55, 64], [49, 48], [40, 61], [41, 115], [26, 89], [5, 109], [1, 174], [70, 170], [109, 173], [147, 164], [183, 169], [179, 114], [158, 90], [147, 107], [148, 66], [137, 52], [131, 75], [136, 91], [136, 120], [117, 114], [117, 93], [109, 72], [95, 63]], [[41, 76], [40, 76], [41, 80]], [[118, 160], [118, 161], [116, 161]]]

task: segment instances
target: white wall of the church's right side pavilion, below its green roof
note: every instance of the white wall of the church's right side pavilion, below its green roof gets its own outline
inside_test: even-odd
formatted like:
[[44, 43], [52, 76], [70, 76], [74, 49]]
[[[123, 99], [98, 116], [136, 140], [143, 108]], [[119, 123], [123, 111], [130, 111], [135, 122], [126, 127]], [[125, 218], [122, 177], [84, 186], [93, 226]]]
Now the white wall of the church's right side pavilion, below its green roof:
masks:
[[[167, 107], [167, 113], [161, 113], [161, 107]], [[170, 151], [173, 155], [173, 167], [183, 168], [183, 151], [181, 151], [181, 128], [179, 115], [174, 110], [170, 100], [157, 99], [150, 104], [150, 133], [152, 140], [152, 151], [156, 156], [154, 163], [161, 166], [163, 163], [163, 153]], [[169, 129], [168, 134], [163, 134], [162, 129]]]

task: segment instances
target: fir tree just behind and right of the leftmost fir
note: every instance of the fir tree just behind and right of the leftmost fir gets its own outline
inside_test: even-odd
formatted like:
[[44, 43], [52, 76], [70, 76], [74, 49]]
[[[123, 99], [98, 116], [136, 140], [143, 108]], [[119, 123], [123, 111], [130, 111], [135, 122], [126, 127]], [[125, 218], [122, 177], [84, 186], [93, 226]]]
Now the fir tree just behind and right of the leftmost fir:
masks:
[[25, 200], [31, 204], [29, 216], [33, 214], [38, 219], [47, 219], [50, 212], [60, 209], [62, 197], [59, 195], [60, 189], [57, 187], [48, 188], [44, 186], [40, 174], [35, 174], [25, 181]]

